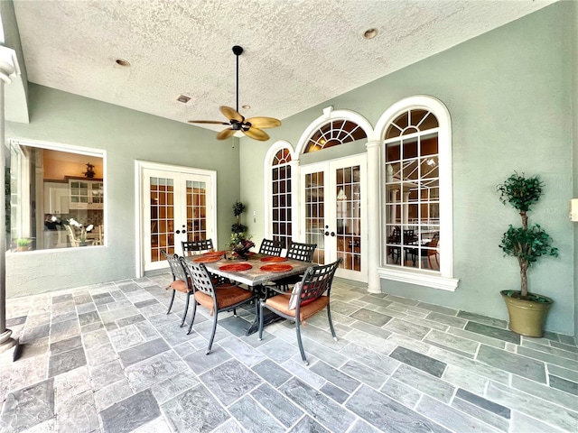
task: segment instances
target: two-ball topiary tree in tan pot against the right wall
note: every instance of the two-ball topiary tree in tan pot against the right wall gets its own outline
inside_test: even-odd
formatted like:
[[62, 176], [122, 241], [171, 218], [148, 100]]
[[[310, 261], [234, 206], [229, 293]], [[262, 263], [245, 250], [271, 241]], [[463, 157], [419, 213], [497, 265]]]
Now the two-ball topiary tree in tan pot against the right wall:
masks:
[[527, 290], [527, 271], [540, 257], [557, 257], [558, 250], [552, 246], [552, 238], [538, 224], [528, 226], [527, 212], [540, 196], [544, 184], [539, 177], [527, 178], [514, 172], [504, 183], [498, 185], [499, 199], [517, 209], [522, 218], [522, 226], [509, 226], [502, 236], [499, 247], [504, 255], [517, 258], [520, 267], [520, 290], [501, 290], [509, 316], [509, 328], [522, 336], [543, 336], [544, 323], [552, 299], [543, 295], [529, 293]]

